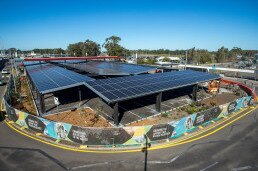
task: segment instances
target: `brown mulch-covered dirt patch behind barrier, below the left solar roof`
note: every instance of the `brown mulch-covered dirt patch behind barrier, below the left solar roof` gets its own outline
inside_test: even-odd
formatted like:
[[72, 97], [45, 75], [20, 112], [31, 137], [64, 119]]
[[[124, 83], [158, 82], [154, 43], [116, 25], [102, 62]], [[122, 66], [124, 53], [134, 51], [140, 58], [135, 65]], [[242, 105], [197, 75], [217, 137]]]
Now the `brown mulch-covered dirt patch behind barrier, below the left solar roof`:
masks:
[[44, 116], [44, 118], [82, 127], [111, 127], [107, 120], [103, 119], [89, 108], [53, 114]]

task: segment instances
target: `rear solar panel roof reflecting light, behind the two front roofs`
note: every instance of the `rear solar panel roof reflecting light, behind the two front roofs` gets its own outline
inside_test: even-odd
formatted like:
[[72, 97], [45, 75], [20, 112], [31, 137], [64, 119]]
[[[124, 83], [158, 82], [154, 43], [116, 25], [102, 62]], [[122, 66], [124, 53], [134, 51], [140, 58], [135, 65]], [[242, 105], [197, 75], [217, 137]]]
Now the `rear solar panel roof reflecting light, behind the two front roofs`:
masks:
[[62, 64], [97, 75], [135, 75], [156, 70], [155, 67], [105, 61], [89, 61], [87, 63]]

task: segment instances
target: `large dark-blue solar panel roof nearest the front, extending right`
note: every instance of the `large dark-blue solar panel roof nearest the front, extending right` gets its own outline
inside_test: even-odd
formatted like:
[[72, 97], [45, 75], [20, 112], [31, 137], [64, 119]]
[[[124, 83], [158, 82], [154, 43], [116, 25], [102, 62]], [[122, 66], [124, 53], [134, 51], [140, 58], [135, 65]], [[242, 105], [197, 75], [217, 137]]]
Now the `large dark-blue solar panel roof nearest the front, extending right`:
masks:
[[186, 70], [94, 80], [85, 84], [105, 101], [113, 103], [219, 78], [215, 74]]

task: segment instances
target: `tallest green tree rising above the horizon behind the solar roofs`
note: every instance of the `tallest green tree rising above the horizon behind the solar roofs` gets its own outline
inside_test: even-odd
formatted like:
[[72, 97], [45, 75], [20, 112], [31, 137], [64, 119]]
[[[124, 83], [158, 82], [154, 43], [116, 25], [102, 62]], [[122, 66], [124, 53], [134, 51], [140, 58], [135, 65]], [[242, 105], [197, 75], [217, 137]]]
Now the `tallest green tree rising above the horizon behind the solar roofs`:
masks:
[[107, 50], [109, 56], [125, 56], [128, 50], [119, 45], [121, 38], [118, 36], [111, 36], [106, 38], [103, 47]]

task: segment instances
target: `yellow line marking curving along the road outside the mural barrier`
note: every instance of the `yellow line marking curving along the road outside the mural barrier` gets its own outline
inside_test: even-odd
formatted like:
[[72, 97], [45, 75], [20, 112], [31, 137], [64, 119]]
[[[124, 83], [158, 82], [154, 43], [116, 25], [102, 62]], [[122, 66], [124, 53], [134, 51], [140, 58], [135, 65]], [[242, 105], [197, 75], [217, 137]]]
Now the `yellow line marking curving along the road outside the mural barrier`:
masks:
[[[193, 141], [197, 141], [197, 140], [200, 140], [200, 139], [203, 139], [209, 135], [212, 135], [220, 130], [222, 130], [223, 128], [227, 127], [228, 125], [232, 124], [233, 122], [243, 118], [244, 116], [250, 114], [251, 112], [253, 112], [255, 109], [257, 109], [258, 106], [256, 106], [254, 109], [251, 109], [250, 111], [238, 116], [237, 118], [233, 119], [232, 121], [230, 122], [227, 122], [229, 119], [233, 118], [234, 116], [237, 116], [239, 115], [241, 112], [243, 111], [239, 111], [235, 114], [232, 115], [232, 117], [229, 117], [225, 120], [223, 120], [222, 122], [220, 122], [219, 124], [216, 124], [210, 128], [208, 128], [207, 130], [204, 129], [204, 131], [202, 132], [198, 132], [197, 134], [193, 134], [192, 136], [189, 136], [189, 137], [186, 137], [186, 138], [183, 138], [183, 139], [180, 139], [179, 141], [176, 141], [176, 142], [171, 142], [171, 143], [166, 143], [166, 144], [161, 144], [159, 146], [155, 146], [155, 147], [150, 147], [149, 150], [157, 150], [157, 149], [162, 149], [162, 148], [168, 148], [168, 147], [174, 147], [174, 146], [178, 146], [178, 145], [182, 145], [182, 144], [186, 144], [186, 143], [190, 143], [190, 142], [193, 142]], [[76, 151], [76, 152], [86, 152], [86, 153], [110, 153], [110, 154], [115, 154], [115, 153], [132, 153], [132, 152], [141, 152], [141, 149], [129, 149], [129, 150], [119, 150], [119, 149], [116, 149], [116, 151], [112, 151], [111, 150], [91, 150], [91, 149], [87, 149], [87, 150], [82, 150], [82, 149], [77, 149], [77, 148], [72, 148], [72, 147], [68, 147], [68, 146], [64, 146], [64, 145], [59, 145], [59, 144], [54, 144], [52, 142], [48, 142], [46, 140], [42, 140], [42, 139], [39, 139], [37, 137], [34, 137], [32, 135], [29, 135], [29, 134], [26, 134], [18, 129], [16, 129], [15, 127], [13, 127], [11, 124], [9, 124], [6, 120], [4, 121], [12, 130], [26, 136], [26, 137], [29, 137], [31, 139], [34, 139], [36, 141], [39, 141], [39, 142], [42, 142], [44, 144], [48, 144], [48, 145], [51, 145], [51, 146], [54, 146], [54, 147], [57, 147], [57, 148], [61, 148], [61, 149], [65, 149], [65, 150], [70, 150], [70, 151]], [[195, 137], [196, 135], [200, 135], [214, 127], [217, 127], [223, 123], [227, 122], [225, 125], [222, 125], [221, 127], [218, 127], [217, 129], [215, 129], [214, 131], [210, 132], [210, 133], [207, 133], [203, 136], [200, 136], [200, 137], [197, 137], [197, 138], [193, 138], [191, 139], [192, 137]], [[190, 139], [190, 140], [187, 140], [187, 139]], [[186, 141], [184, 141], [186, 140]]]

